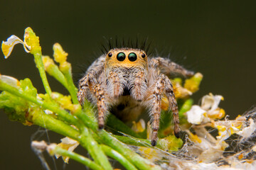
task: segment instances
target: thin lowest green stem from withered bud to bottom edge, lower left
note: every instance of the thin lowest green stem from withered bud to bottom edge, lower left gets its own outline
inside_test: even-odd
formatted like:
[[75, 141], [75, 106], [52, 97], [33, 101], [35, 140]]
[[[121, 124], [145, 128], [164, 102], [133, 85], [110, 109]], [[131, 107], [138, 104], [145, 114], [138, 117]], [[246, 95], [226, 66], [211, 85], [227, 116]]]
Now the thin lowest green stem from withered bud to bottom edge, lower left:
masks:
[[62, 157], [70, 157], [70, 159], [74, 159], [77, 162], [80, 162], [81, 164], [84, 164], [90, 169], [94, 170], [103, 170], [103, 168], [96, 164], [95, 162], [92, 162], [90, 159], [87, 159], [86, 157], [82, 157], [80, 154], [76, 154], [74, 152], [69, 152], [66, 149], [62, 149], [61, 147], [55, 147], [53, 151], [50, 154], [59, 154]]

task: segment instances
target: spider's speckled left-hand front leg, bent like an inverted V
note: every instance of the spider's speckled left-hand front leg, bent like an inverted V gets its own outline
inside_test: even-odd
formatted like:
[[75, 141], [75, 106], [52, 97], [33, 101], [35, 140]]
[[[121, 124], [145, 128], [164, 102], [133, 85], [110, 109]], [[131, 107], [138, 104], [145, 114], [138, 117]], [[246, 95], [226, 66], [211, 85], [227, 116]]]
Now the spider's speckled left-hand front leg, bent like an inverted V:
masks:
[[82, 105], [85, 97], [89, 96], [96, 101], [98, 108], [98, 125], [99, 129], [104, 128], [105, 116], [107, 115], [107, 92], [102, 89], [95, 77], [95, 72], [88, 72], [85, 77], [79, 81], [78, 101]]

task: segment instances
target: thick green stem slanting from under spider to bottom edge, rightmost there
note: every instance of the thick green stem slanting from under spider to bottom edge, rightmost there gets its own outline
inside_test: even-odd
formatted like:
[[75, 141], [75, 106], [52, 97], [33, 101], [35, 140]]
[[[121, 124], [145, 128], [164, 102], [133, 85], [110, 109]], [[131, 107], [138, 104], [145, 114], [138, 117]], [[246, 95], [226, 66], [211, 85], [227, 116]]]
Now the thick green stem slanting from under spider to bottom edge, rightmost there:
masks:
[[105, 145], [112, 147], [112, 149], [119, 152], [119, 154], [122, 154], [124, 157], [126, 157], [129, 160], [129, 162], [134, 164], [137, 167], [137, 169], [143, 169], [143, 170], [161, 169], [156, 164], [153, 164], [148, 160], [140, 157], [139, 154], [132, 152], [132, 150], [130, 150], [129, 147], [119, 142], [119, 140], [117, 140], [115, 137], [112, 137], [112, 135], [107, 133], [105, 130], [100, 130], [98, 132], [98, 136], [100, 137], [100, 140], [102, 140], [102, 142]]

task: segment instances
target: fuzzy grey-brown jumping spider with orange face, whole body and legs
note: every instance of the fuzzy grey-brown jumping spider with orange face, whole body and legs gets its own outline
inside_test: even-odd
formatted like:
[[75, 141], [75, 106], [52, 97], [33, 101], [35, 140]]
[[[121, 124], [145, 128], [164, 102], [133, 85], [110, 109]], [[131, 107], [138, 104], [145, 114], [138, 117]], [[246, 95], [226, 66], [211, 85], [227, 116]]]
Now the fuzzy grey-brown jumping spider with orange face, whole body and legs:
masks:
[[149, 59], [144, 50], [114, 48], [99, 57], [87, 69], [79, 81], [78, 100], [82, 104], [87, 98], [97, 104], [99, 128], [104, 128], [108, 111], [127, 121], [135, 120], [144, 108], [151, 117], [151, 145], [156, 145], [161, 96], [169, 100], [174, 115], [174, 134], [178, 137], [178, 107], [174, 89], [167, 77], [178, 73], [190, 77], [189, 72], [168, 59]]

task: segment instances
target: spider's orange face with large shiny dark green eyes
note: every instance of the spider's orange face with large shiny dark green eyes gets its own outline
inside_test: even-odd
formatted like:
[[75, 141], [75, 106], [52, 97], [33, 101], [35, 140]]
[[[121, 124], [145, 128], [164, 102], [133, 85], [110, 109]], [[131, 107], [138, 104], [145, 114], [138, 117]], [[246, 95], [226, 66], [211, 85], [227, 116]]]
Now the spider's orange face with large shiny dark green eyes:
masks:
[[106, 55], [105, 68], [111, 67], [140, 67], [146, 69], [146, 52], [134, 48], [114, 48]]

